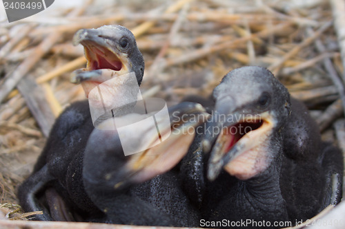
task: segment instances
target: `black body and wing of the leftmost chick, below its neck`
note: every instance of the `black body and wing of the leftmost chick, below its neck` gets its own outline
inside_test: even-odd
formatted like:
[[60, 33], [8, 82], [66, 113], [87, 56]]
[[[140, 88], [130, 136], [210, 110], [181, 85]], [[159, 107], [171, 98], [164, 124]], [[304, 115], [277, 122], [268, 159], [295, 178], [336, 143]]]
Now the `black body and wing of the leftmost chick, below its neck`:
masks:
[[57, 191], [72, 215], [86, 219], [101, 213], [86, 195], [81, 179], [83, 152], [93, 129], [87, 100], [73, 103], [55, 121], [32, 175], [18, 189], [23, 210], [43, 210], [35, 220], [64, 220], [52, 218], [49, 207], [43, 205], [48, 188]]

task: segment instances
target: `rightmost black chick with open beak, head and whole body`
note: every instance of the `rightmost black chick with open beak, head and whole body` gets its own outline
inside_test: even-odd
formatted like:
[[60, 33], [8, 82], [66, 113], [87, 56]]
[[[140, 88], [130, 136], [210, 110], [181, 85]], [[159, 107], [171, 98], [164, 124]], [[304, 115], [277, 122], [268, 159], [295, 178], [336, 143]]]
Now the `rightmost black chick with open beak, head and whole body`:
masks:
[[340, 201], [342, 153], [321, 141], [304, 105], [267, 69], [235, 69], [213, 96], [206, 127], [213, 131], [203, 146], [212, 149], [207, 175], [214, 181], [206, 184], [201, 218], [209, 223], [201, 226], [279, 228]]

